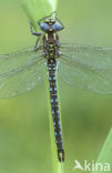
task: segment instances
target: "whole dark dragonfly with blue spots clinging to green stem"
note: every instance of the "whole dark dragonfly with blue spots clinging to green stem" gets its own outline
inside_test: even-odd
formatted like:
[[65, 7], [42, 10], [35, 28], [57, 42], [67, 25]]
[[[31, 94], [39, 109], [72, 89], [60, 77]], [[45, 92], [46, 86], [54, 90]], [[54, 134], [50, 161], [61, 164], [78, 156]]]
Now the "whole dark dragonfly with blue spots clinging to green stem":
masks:
[[34, 48], [0, 55], [0, 99], [32, 90], [45, 80], [45, 69], [58, 159], [63, 162], [57, 79], [80, 89], [112, 94], [112, 48], [61, 43], [59, 32], [64, 26], [57, 11], [38, 24], [41, 32], [34, 32], [30, 22], [31, 33], [38, 37]]

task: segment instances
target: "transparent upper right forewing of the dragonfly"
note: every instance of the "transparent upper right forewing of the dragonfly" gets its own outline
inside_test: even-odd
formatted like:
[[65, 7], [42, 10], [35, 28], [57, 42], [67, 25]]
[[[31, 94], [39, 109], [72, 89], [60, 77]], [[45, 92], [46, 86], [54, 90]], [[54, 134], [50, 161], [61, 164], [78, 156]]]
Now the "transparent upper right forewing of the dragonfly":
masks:
[[70, 61], [77, 61], [92, 69], [112, 69], [112, 48], [62, 44], [60, 49]]

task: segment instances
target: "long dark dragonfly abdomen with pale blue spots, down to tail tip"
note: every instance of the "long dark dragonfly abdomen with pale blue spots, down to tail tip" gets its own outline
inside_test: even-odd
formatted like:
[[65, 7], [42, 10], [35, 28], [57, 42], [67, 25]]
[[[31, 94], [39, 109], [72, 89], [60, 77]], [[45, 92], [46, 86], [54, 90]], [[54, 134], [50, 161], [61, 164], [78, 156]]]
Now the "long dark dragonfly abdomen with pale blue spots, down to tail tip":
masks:
[[54, 125], [55, 143], [58, 149], [58, 157], [60, 161], [64, 161], [62, 132], [61, 132], [61, 124], [60, 124], [58, 88], [57, 88], [57, 60], [55, 59], [48, 60], [48, 71], [49, 71], [50, 102], [51, 102], [51, 111], [52, 111], [53, 125]]

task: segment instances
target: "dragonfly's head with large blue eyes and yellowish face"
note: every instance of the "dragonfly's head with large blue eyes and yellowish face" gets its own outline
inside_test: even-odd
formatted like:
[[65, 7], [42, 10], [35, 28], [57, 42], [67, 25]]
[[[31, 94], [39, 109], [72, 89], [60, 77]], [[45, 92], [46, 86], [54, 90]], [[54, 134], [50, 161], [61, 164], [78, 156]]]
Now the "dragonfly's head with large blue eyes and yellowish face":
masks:
[[47, 19], [43, 23], [40, 24], [40, 29], [44, 32], [58, 32], [61, 29], [59, 22], [55, 19]]

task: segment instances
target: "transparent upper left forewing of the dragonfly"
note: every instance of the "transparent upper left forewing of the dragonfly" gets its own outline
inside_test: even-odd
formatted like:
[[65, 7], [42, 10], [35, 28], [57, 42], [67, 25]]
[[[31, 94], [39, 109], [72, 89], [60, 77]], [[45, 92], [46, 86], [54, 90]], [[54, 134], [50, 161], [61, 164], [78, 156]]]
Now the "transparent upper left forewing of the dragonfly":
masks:
[[31, 63], [41, 54], [41, 49], [34, 51], [34, 48], [27, 48], [10, 54], [0, 55], [0, 77], [4, 73], [14, 72], [19, 68]]

